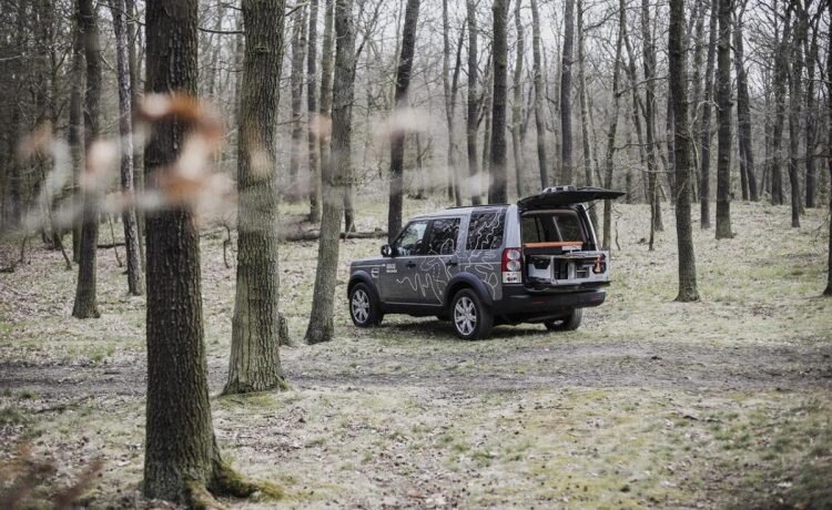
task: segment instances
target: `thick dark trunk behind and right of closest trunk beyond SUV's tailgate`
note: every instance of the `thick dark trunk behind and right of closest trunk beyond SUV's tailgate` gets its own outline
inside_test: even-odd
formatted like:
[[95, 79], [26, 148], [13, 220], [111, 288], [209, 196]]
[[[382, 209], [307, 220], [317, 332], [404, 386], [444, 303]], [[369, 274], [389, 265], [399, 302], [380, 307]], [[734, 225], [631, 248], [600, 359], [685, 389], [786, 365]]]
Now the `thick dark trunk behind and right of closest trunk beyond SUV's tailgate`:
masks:
[[717, 238], [731, 233], [731, 9], [732, 0], [719, 0], [717, 43]]

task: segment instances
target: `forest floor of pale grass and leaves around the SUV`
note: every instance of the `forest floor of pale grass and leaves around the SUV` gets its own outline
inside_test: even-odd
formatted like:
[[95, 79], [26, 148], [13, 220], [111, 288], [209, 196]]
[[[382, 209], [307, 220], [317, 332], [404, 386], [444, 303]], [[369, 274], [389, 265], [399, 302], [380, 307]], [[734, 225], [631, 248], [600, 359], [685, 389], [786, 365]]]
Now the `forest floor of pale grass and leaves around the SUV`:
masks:
[[[408, 214], [436, 208], [407, 203]], [[359, 230], [383, 226], [372, 220], [381, 206], [359, 211]], [[832, 507], [832, 299], [820, 297], [828, 213], [810, 211], [792, 230], [787, 207], [734, 203], [734, 238], [696, 226], [693, 304], [673, 302], [672, 210], [663, 214], [649, 252], [647, 207], [616, 205], [613, 284], [580, 329], [498, 327], [484, 341], [458, 340], [436, 319], [353, 327], [349, 261], [383, 241], [344, 242], [335, 340], [282, 348], [292, 389], [244, 397], [216, 396], [234, 269], [223, 263], [224, 231], [206, 231], [205, 339], [224, 456], [282, 484], [286, 508]], [[315, 257], [314, 242], [281, 246], [295, 339]], [[0, 275], [0, 476], [21, 445], [57, 466], [40, 491], [101, 457], [83, 502], [154, 507], [138, 490], [144, 299], [126, 295], [112, 249], [99, 252], [100, 319], [70, 318], [74, 280], [42, 247]]]

